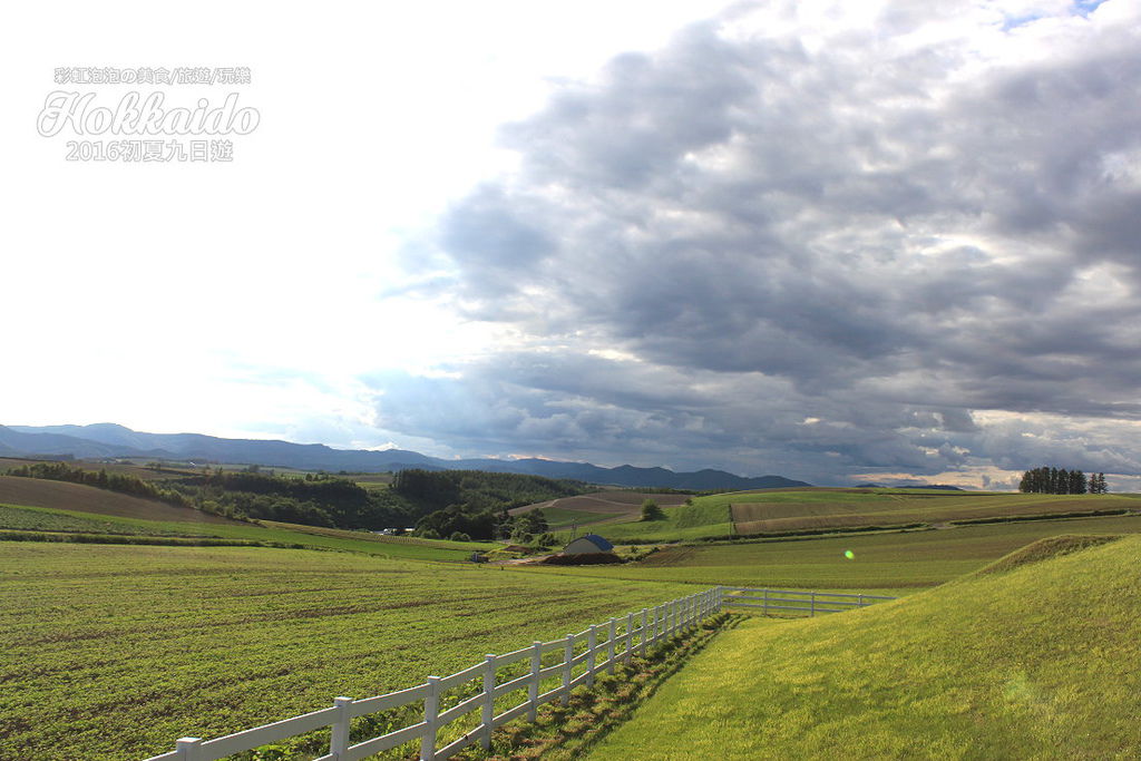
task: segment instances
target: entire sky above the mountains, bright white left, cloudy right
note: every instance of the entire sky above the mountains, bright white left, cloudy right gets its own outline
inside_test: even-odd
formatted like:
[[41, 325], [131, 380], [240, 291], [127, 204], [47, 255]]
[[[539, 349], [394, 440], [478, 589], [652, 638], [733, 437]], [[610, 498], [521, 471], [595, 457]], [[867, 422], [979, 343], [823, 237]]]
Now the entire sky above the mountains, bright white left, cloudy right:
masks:
[[1141, 491], [1136, 2], [3, 13], [0, 424]]

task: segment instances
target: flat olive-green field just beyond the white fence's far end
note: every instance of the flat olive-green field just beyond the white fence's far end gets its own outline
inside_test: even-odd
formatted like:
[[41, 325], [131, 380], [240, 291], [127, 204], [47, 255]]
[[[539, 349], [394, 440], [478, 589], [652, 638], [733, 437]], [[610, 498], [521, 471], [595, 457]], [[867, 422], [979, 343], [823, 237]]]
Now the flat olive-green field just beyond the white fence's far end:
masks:
[[[1034, 520], [942, 531], [711, 542], [665, 548], [631, 565], [527, 569], [638, 581], [867, 591], [941, 584], [1046, 536], [1134, 533], [1141, 533], [1141, 516]], [[852, 559], [845, 551], [852, 552]]]

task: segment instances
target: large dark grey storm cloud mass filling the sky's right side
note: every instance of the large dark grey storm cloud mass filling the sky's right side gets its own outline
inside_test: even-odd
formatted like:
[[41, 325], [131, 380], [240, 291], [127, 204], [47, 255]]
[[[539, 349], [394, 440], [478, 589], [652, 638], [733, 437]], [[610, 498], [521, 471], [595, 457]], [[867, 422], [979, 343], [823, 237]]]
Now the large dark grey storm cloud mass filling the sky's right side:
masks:
[[1135, 470], [1138, 445], [1079, 431], [1141, 419], [1138, 25], [1058, 22], [988, 62], [969, 34], [905, 44], [966, 10], [915, 8], [818, 48], [697, 24], [507, 128], [520, 171], [440, 246], [464, 314], [545, 348], [408, 380], [385, 415], [430, 396], [451, 427], [406, 426], [476, 450], [818, 479]]

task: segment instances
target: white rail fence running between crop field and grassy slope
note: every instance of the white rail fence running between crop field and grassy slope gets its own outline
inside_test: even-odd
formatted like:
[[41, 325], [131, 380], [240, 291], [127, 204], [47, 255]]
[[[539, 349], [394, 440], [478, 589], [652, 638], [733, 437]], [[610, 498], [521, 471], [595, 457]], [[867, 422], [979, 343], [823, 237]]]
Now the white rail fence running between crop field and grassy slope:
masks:
[[[727, 594], [730, 592], [731, 594]], [[761, 592], [760, 597], [746, 592]], [[777, 596], [809, 596], [808, 607], [785, 605], [796, 602], [796, 598]], [[827, 602], [832, 598], [856, 598], [855, 602]], [[329, 753], [315, 761], [356, 761], [366, 756], [388, 751], [405, 743], [420, 740], [421, 761], [447, 759], [461, 750], [480, 743], [491, 747], [492, 731], [509, 721], [527, 715], [534, 721], [539, 706], [552, 701], [566, 705], [570, 699], [570, 690], [580, 685], [593, 685], [594, 677], [604, 671], [614, 673], [620, 662], [629, 662], [637, 654], [645, 655], [666, 639], [696, 628], [706, 617], [720, 613], [723, 606], [762, 608], [764, 613], [776, 610], [809, 610], [817, 613], [836, 613], [835, 606], [865, 607], [880, 600], [895, 598], [872, 594], [830, 594], [825, 592], [796, 592], [788, 590], [762, 590], [741, 586], [714, 586], [671, 600], [653, 608], [630, 612], [625, 616], [610, 618], [604, 624], [592, 624], [575, 634], [549, 642], [535, 641], [529, 647], [520, 648], [503, 655], [488, 654], [482, 663], [477, 663], [448, 677], [428, 677], [423, 685], [416, 685], [386, 695], [364, 699], [338, 697], [327, 709], [306, 713], [292, 719], [246, 729], [211, 740], [197, 737], [183, 737], [169, 753], [155, 755], [146, 761], [216, 761], [234, 753], [251, 751], [261, 745], [277, 743], [297, 735], [304, 735], [317, 729], [330, 728], [331, 737]], [[745, 602], [744, 600], [761, 600]], [[806, 601], [801, 598], [799, 601]], [[557, 655], [552, 659], [551, 655]], [[544, 662], [545, 658], [545, 662]], [[501, 681], [501, 669], [526, 664], [521, 675], [507, 674]], [[518, 669], [518, 666], [517, 666]], [[580, 673], [575, 673], [581, 670]], [[541, 693], [543, 682], [552, 683], [553, 688]], [[440, 697], [447, 690], [463, 686], [476, 686], [478, 689], [468, 697], [461, 697], [456, 705], [440, 710]], [[512, 693], [526, 691], [526, 698], [511, 707], [495, 713], [496, 699]], [[416, 703], [423, 703], [423, 718], [400, 729], [373, 737], [355, 745], [350, 744], [349, 727], [354, 719], [381, 711], [398, 709]], [[502, 703], [501, 703], [502, 705]], [[450, 723], [472, 712], [479, 712], [479, 723], [461, 737], [438, 747], [439, 731]]]

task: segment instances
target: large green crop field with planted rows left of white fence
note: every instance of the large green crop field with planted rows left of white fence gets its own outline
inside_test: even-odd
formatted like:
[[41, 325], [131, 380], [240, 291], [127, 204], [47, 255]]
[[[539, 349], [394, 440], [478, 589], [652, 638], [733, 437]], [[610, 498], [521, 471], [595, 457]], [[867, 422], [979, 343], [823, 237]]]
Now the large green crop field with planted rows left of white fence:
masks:
[[337, 552], [0, 544], [0, 758], [132, 759], [693, 591]]

